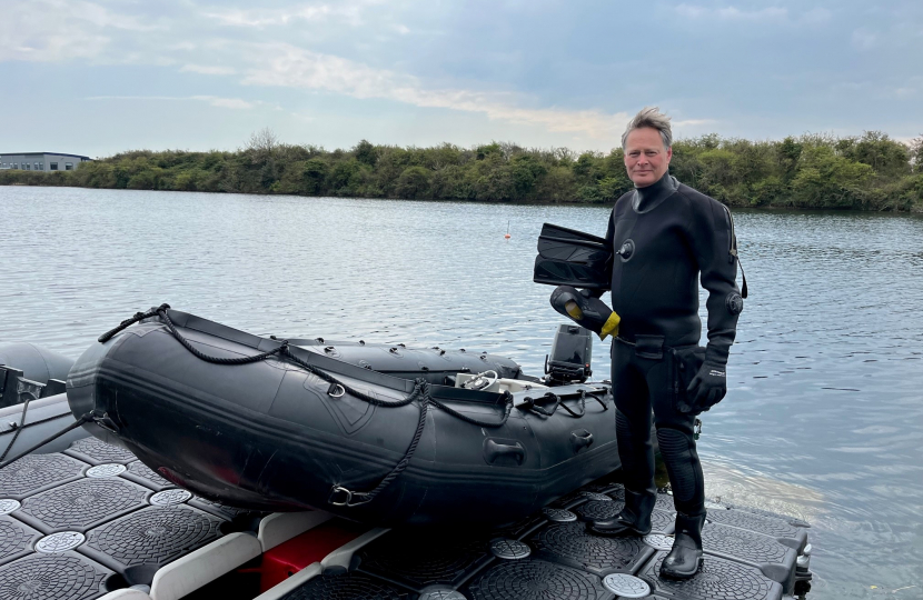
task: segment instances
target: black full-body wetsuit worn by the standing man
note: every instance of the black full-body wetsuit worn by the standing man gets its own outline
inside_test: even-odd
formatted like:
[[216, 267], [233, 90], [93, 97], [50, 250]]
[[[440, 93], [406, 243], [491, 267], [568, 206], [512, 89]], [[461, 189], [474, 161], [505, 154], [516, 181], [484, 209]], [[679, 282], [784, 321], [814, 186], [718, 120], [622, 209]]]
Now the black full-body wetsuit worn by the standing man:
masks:
[[695, 373], [679, 379], [674, 354], [694, 349], [702, 334], [701, 273], [702, 286], [708, 290], [706, 360], [722, 368], [727, 363], [743, 308], [735, 283], [731, 213], [721, 202], [667, 173], [616, 201], [606, 240], [617, 252], [612, 308], [622, 323], [613, 341], [612, 381], [625, 487], [638, 493], [656, 491], [653, 408], [676, 509], [701, 514], [704, 482], [693, 437], [695, 416], [675, 408], [678, 397], [686, 400], [685, 386]]

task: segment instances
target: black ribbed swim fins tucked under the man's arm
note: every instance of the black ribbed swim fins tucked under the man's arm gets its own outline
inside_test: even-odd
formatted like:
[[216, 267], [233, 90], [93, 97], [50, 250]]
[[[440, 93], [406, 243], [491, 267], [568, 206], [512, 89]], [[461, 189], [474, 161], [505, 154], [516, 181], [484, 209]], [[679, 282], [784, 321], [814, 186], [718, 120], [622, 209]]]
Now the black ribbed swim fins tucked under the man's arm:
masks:
[[545, 223], [538, 237], [533, 281], [607, 290], [612, 287], [612, 260], [605, 239]]

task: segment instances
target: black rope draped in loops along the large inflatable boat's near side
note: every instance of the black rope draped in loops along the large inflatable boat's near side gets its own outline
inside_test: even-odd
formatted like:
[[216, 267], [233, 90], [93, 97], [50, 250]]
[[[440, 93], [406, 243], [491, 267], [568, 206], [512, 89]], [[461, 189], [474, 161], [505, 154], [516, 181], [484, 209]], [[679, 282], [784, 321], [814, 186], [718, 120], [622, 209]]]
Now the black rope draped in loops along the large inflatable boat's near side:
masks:
[[[400, 459], [400, 461], [394, 467], [394, 469], [391, 469], [391, 471], [387, 476], [385, 476], [385, 478], [381, 481], [379, 481], [378, 484], [374, 489], [371, 489], [367, 492], [357, 492], [357, 491], [349, 490], [349, 489], [347, 489], [343, 486], [335, 484], [330, 490], [330, 496], [328, 498], [328, 501], [331, 504], [337, 506], [337, 507], [356, 507], [356, 506], [359, 506], [359, 504], [365, 504], [367, 502], [370, 502], [371, 500], [375, 499], [376, 496], [378, 496], [381, 491], [384, 491], [385, 488], [387, 488], [395, 479], [397, 479], [397, 477], [405, 469], [407, 469], [407, 467], [410, 463], [410, 459], [413, 458], [414, 453], [417, 451], [417, 446], [419, 446], [420, 438], [423, 437], [423, 430], [426, 427], [426, 414], [429, 410], [429, 404], [433, 404], [433, 406], [437, 407], [441, 411], [450, 414], [451, 417], [454, 417], [456, 419], [465, 421], [466, 423], [470, 423], [473, 426], [483, 427], [483, 428], [487, 428], [487, 429], [497, 429], [497, 428], [500, 428], [500, 427], [505, 426], [507, 420], [509, 420], [510, 412], [513, 411], [513, 394], [509, 393], [508, 391], [505, 391], [502, 394], [502, 397], [505, 401], [504, 414], [498, 421], [482, 421], [479, 419], [468, 417], [467, 414], [464, 414], [464, 413], [453, 409], [451, 407], [448, 407], [448, 406], [444, 404], [443, 402], [436, 400], [433, 397], [433, 394], [430, 393], [429, 382], [427, 382], [423, 378], [419, 378], [419, 379], [415, 380], [414, 391], [411, 391], [406, 398], [404, 398], [401, 400], [379, 400], [378, 398], [375, 398], [373, 396], [364, 393], [364, 392], [348, 386], [347, 383], [344, 383], [343, 381], [338, 380], [337, 378], [335, 378], [330, 373], [328, 373], [328, 372], [326, 372], [321, 369], [318, 369], [314, 364], [296, 357], [295, 354], [291, 353], [291, 350], [288, 346], [288, 340], [282, 340], [281, 343], [272, 350], [268, 350], [266, 352], [260, 352], [259, 354], [254, 354], [251, 357], [237, 357], [237, 358], [211, 357], [211, 356], [206, 354], [205, 352], [201, 352], [197, 348], [195, 348], [189, 342], [189, 340], [187, 340], [177, 330], [176, 326], [173, 324], [172, 320], [170, 319], [170, 316], [167, 314], [167, 309], [169, 309], [169, 308], [170, 308], [170, 306], [165, 303], [165, 304], [160, 304], [156, 309], [151, 309], [148, 312], [137, 312], [137, 313], [135, 313], [135, 317], [132, 317], [131, 319], [126, 319], [125, 321], [119, 323], [119, 326], [117, 328], [115, 328], [110, 331], [107, 331], [106, 333], [100, 336], [99, 341], [105, 343], [106, 341], [110, 340], [112, 338], [112, 336], [115, 336], [116, 333], [122, 331], [123, 329], [128, 328], [129, 326], [131, 326], [133, 323], [137, 323], [138, 321], [140, 321], [142, 319], [147, 319], [149, 317], [158, 316], [163, 320], [165, 324], [167, 326], [167, 329], [170, 331], [170, 333], [173, 336], [173, 338], [176, 338], [176, 340], [183, 348], [186, 348], [196, 358], [198, 358], [200, 360], [204, 360], [206, 362], [210, 362], [210, 363], [214, 363], [214, 364], [228, 364], [228, 366], [249, 364], [249, 363], [252, 363], [252, 362], [259, 362], [261, 360], [266, 360], [266, 359], [268, 359], [269, 357], [272, 357], [272, 356], [277, 356], [281, 359], [287, 359], [287, 360], [294, 362], [295, 364], [298, 364], [299, 367], [301, 367], [306, 371], [310, 372], [314, 376], [319, 377], [321, 380], [329, 383], [330, 387], [327, 389], [327, 393], [333, 398], [339, 398], [344, 393], [348, 393], [351, 397], [357, 398], [358, 400], [361, 400], [363, 402], [367, 402], [371, 406], [385, 407], [385, 408], [406, 407], [407, 404], [414, 402], [415, 400], [419, 401], [420, 414], [419, 414], [419, 420], [417, 421], [417, 429], [414, 432], [414, 437], [410, 440], [410, 444], [407, 447], [407, 450], [404, 452], [404, 458]], [[336, 498], [339, 494], [343, 494], [344, 498], [343, 499]]]

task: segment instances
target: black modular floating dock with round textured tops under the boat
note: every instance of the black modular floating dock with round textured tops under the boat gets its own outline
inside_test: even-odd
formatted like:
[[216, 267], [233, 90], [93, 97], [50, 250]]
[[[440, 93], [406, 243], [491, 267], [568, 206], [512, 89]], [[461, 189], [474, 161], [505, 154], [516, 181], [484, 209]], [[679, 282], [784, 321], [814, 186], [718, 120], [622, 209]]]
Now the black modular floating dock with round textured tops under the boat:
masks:
[[[617, 483], [595, 483], [494, 531], [369, 529], [322, 512], [247, 513], [195, 498], [95, 438], [0, 470], [3, 600], [783, 600], [810, 589], [807, 523], [709, 503], [704, 567], [658, 577], [672, 498], [654, 531], [602, 538]], [[209, 592], [259, 578], [246, 594]], [[260, 593], [262, 592], [262, 593]]]

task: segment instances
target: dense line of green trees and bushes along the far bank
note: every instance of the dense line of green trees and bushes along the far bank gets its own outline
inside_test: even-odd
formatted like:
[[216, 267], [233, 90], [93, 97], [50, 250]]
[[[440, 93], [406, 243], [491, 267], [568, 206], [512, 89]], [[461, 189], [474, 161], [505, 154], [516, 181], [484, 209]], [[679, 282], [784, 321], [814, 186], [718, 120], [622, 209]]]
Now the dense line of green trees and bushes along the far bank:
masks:
[[[524, 202], [612, 203], [632, 189], [621, 148], [576, 153], [493, 142], [474, 148], [378, 146], [349, 150], [280, 143], [270, 130], [236, 151], [136, 150], [73, 171], [0, 171], [0, 184], [75, 186]], [[679, 181], [732, 207], [923, 211], [923, 136], [879, 131], [750, 141], [677, 140]]]

